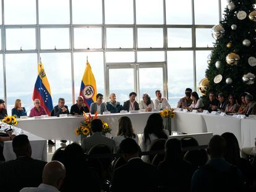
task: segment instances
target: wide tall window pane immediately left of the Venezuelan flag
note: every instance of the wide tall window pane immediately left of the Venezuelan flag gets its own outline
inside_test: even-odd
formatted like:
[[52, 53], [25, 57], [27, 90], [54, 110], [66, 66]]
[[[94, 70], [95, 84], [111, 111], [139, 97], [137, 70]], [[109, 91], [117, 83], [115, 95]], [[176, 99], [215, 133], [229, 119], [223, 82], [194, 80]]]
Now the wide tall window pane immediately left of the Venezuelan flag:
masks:
[[[27, 109], [29, 114], [33, 107], [32, 94], [37, 72], [36, 54], [6, 54], [8, 114], [11, 114], [11, 109], [17, 98], [22, 100], [23, 107]], [[48, 74], [46, 73], [46, 75]]]

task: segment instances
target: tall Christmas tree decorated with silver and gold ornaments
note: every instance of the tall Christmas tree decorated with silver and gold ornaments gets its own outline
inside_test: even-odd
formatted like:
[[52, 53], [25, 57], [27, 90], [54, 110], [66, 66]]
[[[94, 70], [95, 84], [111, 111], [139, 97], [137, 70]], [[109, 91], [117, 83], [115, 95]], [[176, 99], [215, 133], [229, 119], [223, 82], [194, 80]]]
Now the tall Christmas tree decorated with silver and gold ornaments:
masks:
[[[224, 19], [212, 29], [216, 43], [208, 56], [206, 87], [215, 93], [249, 92], [256, 98], [256, 10], [255, 0], [233, 0], [224, 10]], [[207, 81], [206, 79], [206, 81]], [[205, 82], [205, 81], [204, 81]], [[204, 83], [207, 84], [207, 83]], [[208, 94], [207, 94], [208, 95]]]

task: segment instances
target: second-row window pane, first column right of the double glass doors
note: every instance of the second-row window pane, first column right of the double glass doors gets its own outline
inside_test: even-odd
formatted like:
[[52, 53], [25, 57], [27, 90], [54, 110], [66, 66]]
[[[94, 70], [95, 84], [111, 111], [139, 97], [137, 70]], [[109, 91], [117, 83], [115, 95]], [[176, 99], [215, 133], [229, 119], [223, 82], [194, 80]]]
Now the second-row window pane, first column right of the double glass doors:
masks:
[[168, 28], [168, 48], [191, 48], [191, 28]]

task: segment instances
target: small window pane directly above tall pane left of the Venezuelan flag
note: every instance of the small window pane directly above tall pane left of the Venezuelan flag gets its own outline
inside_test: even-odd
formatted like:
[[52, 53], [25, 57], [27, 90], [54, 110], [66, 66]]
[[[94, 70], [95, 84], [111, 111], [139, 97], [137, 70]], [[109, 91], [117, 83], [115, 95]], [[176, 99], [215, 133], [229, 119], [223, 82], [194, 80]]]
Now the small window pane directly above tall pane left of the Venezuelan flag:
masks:
[[7, 28], [6, 29], [6, 49], [26, 50], [36, 49], [35, 28]]

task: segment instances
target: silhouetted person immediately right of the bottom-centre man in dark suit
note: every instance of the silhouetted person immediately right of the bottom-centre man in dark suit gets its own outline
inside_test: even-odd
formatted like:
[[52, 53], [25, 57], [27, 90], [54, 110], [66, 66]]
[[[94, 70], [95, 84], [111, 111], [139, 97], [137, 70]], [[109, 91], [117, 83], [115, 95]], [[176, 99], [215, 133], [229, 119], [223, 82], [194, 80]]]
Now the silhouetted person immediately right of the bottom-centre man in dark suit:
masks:
[[189, 191], [192, 165], [183, 159], [181, 141], [176, 138], [165, 143], [164, 161], [158, 165], [158, 181], [162, 191]]

